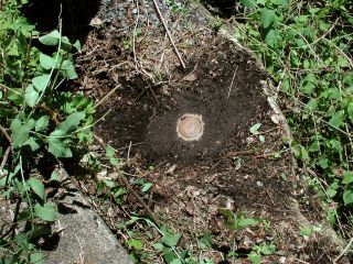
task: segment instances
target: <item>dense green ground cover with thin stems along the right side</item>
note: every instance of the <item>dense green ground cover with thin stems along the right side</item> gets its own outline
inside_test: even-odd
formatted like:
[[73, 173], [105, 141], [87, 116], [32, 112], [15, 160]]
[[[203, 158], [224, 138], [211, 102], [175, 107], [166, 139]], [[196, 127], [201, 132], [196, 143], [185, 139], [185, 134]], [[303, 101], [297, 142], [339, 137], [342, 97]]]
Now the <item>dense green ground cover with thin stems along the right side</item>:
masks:
[[261, 58], [293, 134], [288, 144], [328, 202], [329, 220], [339, 224], [342, 235], [351, 237], [352, 4], [346, 0], [240, 3], [235, 37]]

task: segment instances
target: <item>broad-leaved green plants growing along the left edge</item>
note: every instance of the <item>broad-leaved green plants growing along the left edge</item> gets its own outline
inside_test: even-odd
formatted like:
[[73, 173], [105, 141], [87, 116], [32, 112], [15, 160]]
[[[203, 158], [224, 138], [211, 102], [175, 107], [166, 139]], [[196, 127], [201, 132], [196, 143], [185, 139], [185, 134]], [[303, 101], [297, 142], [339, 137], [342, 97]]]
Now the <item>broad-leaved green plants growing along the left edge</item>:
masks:
[[[72, 52], [81, 52], [79, 43], [72, 44], [56, 30], [40, 36], [20, 8], [8, 0], [0, 12], [0, 188], [2, 196], [25, 206], [18, 216], [21, 232], [2, 238], [0, 244], [4, 263], [40, 263], [33, 241], [55, 220], [56, 209], [33, 164], [84, 152], [93, 140], [94, 103], [61, 89], [77, 78]], [[53, 53], [33, 46], [34, 38]], [[45, 182], [56, 179], [53, 173]]]

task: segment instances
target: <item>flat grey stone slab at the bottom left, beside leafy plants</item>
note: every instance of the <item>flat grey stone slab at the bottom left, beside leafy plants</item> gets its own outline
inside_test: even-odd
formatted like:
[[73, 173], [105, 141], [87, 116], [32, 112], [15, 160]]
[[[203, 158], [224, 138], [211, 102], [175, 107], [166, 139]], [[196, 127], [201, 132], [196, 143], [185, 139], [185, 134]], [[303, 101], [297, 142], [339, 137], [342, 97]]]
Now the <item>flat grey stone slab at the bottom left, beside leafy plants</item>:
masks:
[[132, 263], [126, 250], [67, 175], [64, 183], [56, 221], [56, 230], [63, 231], [60, 232], [56, 250], [47, 252], [44, 263]]

